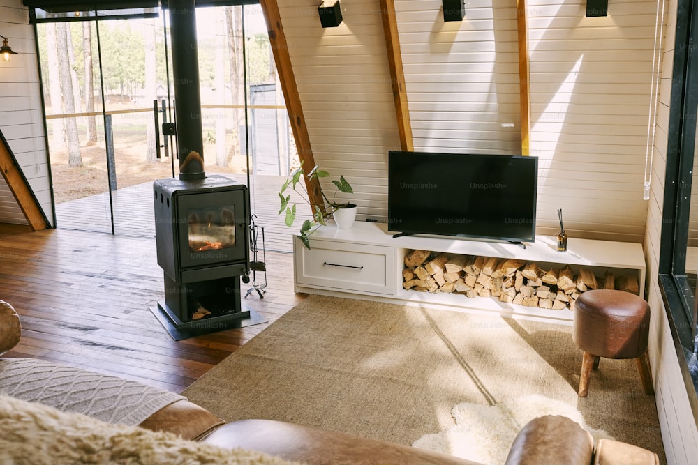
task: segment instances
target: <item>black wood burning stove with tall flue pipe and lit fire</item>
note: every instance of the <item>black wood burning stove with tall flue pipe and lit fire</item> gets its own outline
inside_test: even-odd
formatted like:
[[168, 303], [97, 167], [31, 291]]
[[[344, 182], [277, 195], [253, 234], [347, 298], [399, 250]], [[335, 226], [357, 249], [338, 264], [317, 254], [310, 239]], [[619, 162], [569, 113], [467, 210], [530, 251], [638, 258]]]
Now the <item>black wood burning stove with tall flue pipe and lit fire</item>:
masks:
[[265, 320], [243, 310], [240, 298], [250, 269], [248, 189], [203, 170], [195, 0], [168, 6], [179, 179], [153, 183], [165, 300], [151, 312], [179, 340]]

